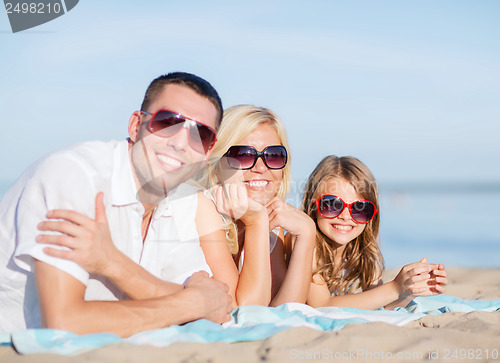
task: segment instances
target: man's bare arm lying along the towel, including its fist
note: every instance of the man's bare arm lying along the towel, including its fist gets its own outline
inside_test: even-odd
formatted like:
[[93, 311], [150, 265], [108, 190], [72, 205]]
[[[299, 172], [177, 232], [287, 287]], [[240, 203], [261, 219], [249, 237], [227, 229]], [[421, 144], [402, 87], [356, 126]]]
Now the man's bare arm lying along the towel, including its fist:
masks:
[[85, 301], [85, 285], [69, 274], [35, 260], [44, 328], [77, 334], [111, 332], [122, 337], [200, 318], [228, 321], [232, 310], [227, 286], [193, 274], [186, 287], [169, 296], [126, 301]]

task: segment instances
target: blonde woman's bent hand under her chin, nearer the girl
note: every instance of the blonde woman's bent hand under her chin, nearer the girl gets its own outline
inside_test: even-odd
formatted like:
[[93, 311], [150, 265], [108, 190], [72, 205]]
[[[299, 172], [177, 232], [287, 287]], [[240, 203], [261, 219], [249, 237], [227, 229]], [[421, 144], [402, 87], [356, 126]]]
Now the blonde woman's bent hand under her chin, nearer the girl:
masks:
[[311, 217], [280, 198], [273, 198], [269, 202], [267, 213], [270, 231], [279, 226], [294, 236], [313, 236], [316, 233], [316, 225]]

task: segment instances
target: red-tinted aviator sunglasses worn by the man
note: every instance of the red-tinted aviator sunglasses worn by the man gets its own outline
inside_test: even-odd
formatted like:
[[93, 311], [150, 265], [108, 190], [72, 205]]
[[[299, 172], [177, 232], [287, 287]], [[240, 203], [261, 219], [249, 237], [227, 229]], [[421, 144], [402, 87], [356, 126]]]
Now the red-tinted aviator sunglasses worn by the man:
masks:
[[217, 140], [214, 129], [180, 113], [168, 110], [158, 110], [153, 114], [146, 111], [141, 113], [151, 116], [148, 130], [160, 137], [173, 136], [186, 127], [189, 130], [189, 146], [199, 153], [206, 154]]

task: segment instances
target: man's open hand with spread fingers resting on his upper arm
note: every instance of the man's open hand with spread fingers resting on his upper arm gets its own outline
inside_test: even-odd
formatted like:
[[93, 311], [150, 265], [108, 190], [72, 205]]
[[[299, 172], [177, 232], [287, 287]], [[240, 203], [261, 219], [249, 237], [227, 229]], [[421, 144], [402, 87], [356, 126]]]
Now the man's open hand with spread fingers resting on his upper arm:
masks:
[[41, 222], [38, 229], [60, 234], [39, 234], [36, 241], [69, 250], [46, 247], [43, 251], [49, 256], [74, 261], [89, 273], [107, 276], [111, 262], [119, 252], [111, 240], [103, 198], [103, 193], [96, 195], [95, 219], [72, 210], [47, 212], [49, 220]]

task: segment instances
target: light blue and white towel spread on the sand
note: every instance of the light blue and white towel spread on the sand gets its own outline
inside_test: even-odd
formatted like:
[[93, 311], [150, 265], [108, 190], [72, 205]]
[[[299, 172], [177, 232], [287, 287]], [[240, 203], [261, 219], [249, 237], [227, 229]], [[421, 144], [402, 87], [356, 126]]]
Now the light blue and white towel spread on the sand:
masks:
[[340, 330], [347, 324], [370, 321], [404, 325], [425, 315], [445, 312], [500, 310], [500, 300], [463, 300], [453, 296], [419, 297], [406, 308], [363, 310], [328, 307], [314, 309], [304, 304], [284, 304], [277, 308], [241, 306], [231, 321], [221, 325], [197, 320], [182, 326], [149, 330], [122, 339], [114, 334], [76, 335], [53, 329], [33, 329], [0, 334], [0, 343], [12, 344], [21, 354], [58, 353], [74, 355], [118, 342], [165, 347], [176, 342], [241, 342], [268, 338], [282, 330], [305, 326], [318, 330]]

